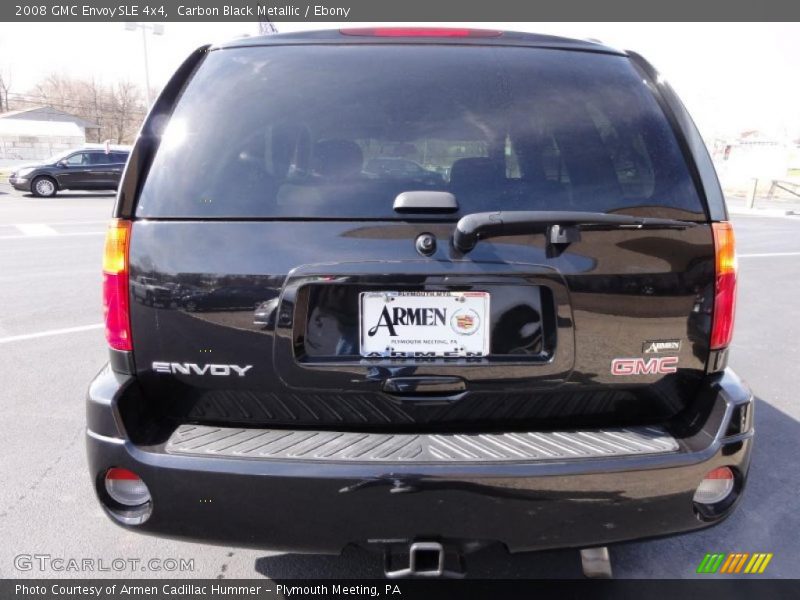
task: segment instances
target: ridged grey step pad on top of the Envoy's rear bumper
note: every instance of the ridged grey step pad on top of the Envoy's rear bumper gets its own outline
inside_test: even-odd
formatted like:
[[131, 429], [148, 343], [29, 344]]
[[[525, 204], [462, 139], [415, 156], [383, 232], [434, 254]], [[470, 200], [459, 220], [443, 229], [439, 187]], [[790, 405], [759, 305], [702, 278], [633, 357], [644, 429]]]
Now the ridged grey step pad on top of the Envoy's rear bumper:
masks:
[[181, 425], [170, 454], [337, 462], [528, 462], [676, 452], [660, 427], [513, 433], [364, 433]]

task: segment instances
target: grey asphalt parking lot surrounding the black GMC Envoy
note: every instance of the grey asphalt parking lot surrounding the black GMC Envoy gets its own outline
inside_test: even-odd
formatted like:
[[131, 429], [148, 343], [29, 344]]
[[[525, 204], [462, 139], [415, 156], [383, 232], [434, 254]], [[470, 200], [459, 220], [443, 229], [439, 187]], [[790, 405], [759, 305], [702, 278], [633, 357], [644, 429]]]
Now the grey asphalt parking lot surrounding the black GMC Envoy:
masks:
[[[106, 360], [100, 258], [112, 204], [99, 194], [38, 199], [0, 183], [0, 577], [382, 576], [380, 557], [357, 550], [322, 557], [204, 546], [129, 533], [103, 515], [85, 466], [83, 402]], [[800, 216], [734, 222], [740, 287], [731, 365], [758, 396], [749, 487], [740, 509], [713, 529], [612, 547], [617, 577], [695, 577], [707, 552], [772, 552], [765, 575], [800, 576]], [[302, 526], [302, 515], [286, 518]], [[103, 558], [106, 566], [114, 558], [191, 559], [194, 568], [65, 573], [34, 561], [27, 571], [17, 568], [27, 564], [18, 555]], [[476, 577], [581, 575], [576, 551], [490, 549], [468, 557], [467, 567]]]

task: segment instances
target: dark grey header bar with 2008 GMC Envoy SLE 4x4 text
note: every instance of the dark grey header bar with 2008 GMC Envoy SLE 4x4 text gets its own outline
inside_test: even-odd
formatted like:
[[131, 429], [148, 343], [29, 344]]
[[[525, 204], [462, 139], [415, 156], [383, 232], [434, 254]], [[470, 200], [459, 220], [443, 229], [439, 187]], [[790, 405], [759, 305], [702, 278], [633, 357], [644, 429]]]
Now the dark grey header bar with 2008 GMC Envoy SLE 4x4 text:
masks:
[[[10, 0], [0, 21], [796, 21], [786, 0]], [[676, 28], [676, 43], [680, 32]]]

